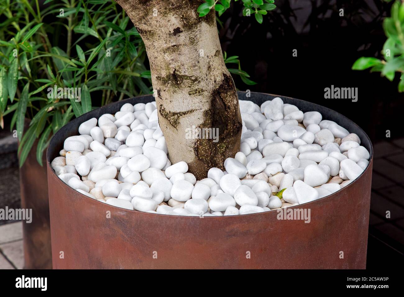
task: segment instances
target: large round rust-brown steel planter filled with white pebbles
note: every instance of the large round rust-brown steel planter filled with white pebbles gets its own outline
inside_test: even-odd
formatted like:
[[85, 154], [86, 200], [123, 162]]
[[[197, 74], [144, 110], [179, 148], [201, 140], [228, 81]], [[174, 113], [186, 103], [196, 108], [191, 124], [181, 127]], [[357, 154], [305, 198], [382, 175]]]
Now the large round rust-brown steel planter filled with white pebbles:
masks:
[[[257, 104], [274, 95], [239, 92]], [[359, 135], [370, 151], [366, 170], [338, 192], [291, 209], [310, 209], [311, 221], [278, 220], [276, 210], [226, 217], [142, 213], [99, 202], [63, 183], [50, 161], [81, 122], [114, 114], [124, 103], [150, 102], [151, 95], [112, 103], [61, 128], [47, 151], [53, 268], [349, 268], [366, 267], [372, 179], [370, 139], [351, 120], [326, 107], [282, 97], [303, 112], [316, 110]], [[110, 212], [110, 217], [108, 213]], [[62, 253], [63, 252], [63, 253]]]

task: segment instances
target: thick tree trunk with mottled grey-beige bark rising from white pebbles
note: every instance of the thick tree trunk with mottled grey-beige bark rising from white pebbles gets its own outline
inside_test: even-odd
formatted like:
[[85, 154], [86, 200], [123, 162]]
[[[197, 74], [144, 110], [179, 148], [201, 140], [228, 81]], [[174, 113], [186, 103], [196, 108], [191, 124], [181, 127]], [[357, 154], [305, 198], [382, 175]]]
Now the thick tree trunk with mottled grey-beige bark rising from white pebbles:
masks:
[[240, 149], [242, 121], [215, 12], [199, 17], [200, 0], [116, 2], [145, 43], [170, 161], [187, 162], [197, 179], [206, 177], [211, 167], [224, 170], [224, 160]]

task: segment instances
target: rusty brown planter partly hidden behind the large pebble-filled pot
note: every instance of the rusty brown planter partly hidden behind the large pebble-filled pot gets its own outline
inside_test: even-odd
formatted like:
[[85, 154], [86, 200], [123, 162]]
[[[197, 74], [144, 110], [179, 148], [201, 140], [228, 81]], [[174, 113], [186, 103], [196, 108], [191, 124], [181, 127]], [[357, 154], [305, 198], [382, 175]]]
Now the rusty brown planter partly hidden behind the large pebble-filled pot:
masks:
[[[29, 122], [25, 122], [27, 131]], [[36, 160], [34, 142], [24, 165], [20, 168], [21, 208], [32, 209], [32, 222], [23, 222], [24, 268], [52, 269], [52, 253], [50, 246], [50, 220], [48, 183], [46, 176], [46, 158], [43, 155], [40, 166]]]

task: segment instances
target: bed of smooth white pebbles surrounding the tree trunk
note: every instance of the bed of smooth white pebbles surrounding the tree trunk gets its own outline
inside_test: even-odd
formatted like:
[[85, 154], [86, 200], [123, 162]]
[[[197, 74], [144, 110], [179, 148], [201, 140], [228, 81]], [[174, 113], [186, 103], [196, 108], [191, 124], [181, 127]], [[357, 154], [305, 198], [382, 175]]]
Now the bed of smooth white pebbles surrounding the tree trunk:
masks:
[[[156, 102], [124, 104], [80, 124], [52, 167], [98, 201], [148, 213], [222, 216], [259, 213], [328, 196], [356, 179], [369, 152], [356, 134], [319, 112], [274, 98], [240, 101], [241, 148], [225, 171], [197, 181], [186, 162], [171, 164]], [[281, 190], [284, 190], [281, 192]], [[276, 194], [279, 192], [278, 196]], [[282, 195], [280, 195], [282, 194]]]

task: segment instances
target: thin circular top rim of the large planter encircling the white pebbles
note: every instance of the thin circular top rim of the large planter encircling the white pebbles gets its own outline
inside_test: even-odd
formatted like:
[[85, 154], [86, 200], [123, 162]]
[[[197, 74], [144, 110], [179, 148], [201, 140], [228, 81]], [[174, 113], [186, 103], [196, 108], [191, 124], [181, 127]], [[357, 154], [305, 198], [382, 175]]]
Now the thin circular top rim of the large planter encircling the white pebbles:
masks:
[[[239, 100], [243, 100], [243, 99], [240, 99], [240, 95], [246, 94], [246, 92], [245, 92], [245, 91], [238, 91], [237, 93], [238, 93], [238, 96], [239, 96]], [[349, 183], [348, 185], [346, 185], [345, 187], [341, 188], [341, 189], [338, 190], [337, 192], [334, 192], [334, 193], [332, 193], [332, 194], [330, 194], [330, 195], [328, 195], [328, 196], [324, 196], [324, 197], [322, 197], [322, 198], [316, 199], [316, 200], [314, 200], [314, 201], [306, 202], [306, 203], [303, 203], [303, 204], [298, 204], [298, 205], [295, 205], [295, 206], [289, 206], [289, 207], [287, 207], [287, 209], [300, 208], [302, 205], [304, 205], [305, 207], [309, 207], [310, 205], [317, 204], [318, 202], [324, 202], [324, 199], [330, 199], [330, 198], [332, 198], [333, 196], [335, 196], [335, 194], [337, 194], [337, 193], [339, 193], [339, 192], [341, 192], [341, 191], [343, 191], [343, 190], [347, 190], [347, 189], [348, 189], [349, 187], [351, 187], [354, 183], [356, 183], [356, 181], [358, 181], [358, 179], [360, 179], [367, 171], [371, 170], [370, 167], [371, 167], [371, 164], [372, 164], [373, 154], [374, 154], [372, 142], [370, 141], [370, 138], [369, 138], [369, 136], [367, 135], [367, 133], [366, 133], [360, 126], [358, 126], [358, 124], [356, 124], [355, 122], [353, 122], [353, 120], [350, 120], [349, 118], [347, 118], [346, 116], [340, 114], [339, 112], [336, 112], [335, 110], [332, 110], [332, 109], [330, 109], [330, 108], [328, 108], [328, 107], [319, 105], [319, 104], [317, 104], [317, 103], [312, 103], [312, 102], [305, 101], [305, 100], [301, 100], [301, 99], [296, 99], [296, 98], [292, 98], [292, 97], [288, 97], [288, 96], [282, 96], [282, 95], [274, 95], [274, 94], [269, 94], [269, 93], [250, 92], [250, 94], [251, 94], [251, 95], [253, 95], [253, 94], [258, 94], [258, 95], [263, 95], [263, 96], [280, 97], [281, 99], [282, 99], [282, 98], [286, 98], [286, 99], [296, 100], [296, 101], [301, 102], [301, 103], [309, 103], [310, 105], [314, 105], [314, 107], [316, 107], [316, 109], [313, 110], [313, 111], [317, 111], [318, 109], [321, 108], [321, 109], [326, 109], [326, 110], [328, 110], [328, 111], [330, 111], [330, 112], [333, 112], [333, 113], [337, 114], [337, 116], [338, 116], [339, 118], [341, 118], [342, 120], [347, 120], [347, 121], [351, 122], [354, 126], [356, 126], [356, 128], [358, 128], [358, 130], [362, 131], [364, 137], [366, 138], [366, 140], [368, 141], [369, 146], [370, 146], [370, 152], [369, 152], [369, 153], [370, 153], [370, 158], [369, 158], [369, 163], [368, 163], [368, 165], [366, 166], [366, 168], [364, 169], [364, 171], [362, 171], [362, 173], [361, 173], [356, 179], [354, 179], [353, 181], [351, 181], [351, 183]], [[109, 104], [107, 104], [107, 105], [101, 106], [101, 107], [97, 108], [97, 110], [98, 110], [98, 109], [99, 109], [99, 110], [106, 109], [107, 107], [111, 107], [112, 105], [115, 105], [116, 103], [131, 103], [130, 101], [133, 101], [133, 99], [142, 99], [142, 98], [145, 98], [145, 97], [149, 98], [150, 96], [152, 96], [152, 95], [140, 95], [140, 96], [136, 96], [136, 97], [132, 97], [132, 98], [127, 98], [127, 99], [124, 99], [124, 100], [121, 100], [121, 101], [116, 101], [116, 102], [112, 102], [112, 103], [109, 103]], [[246, 100], [246, 101], [250, 101], [248, 98], [250, 98], [250, 97], [246, 97], [245, 100]], [[272, 99], [273, 99], [273, 98], [272, 98]], [[268, 100], [272, 100], [272, 99], [268, 99]], [[131, 103], [131, 104], [133, 104], [133, 103]], [[299, 110], [300, 110], [300, 108], [299, 108]], [[93, 112], [93, 111], [94, 111], [94, 110], [92, 110], [91, 112]], [[86, 114], [88, 114], [88, 113], [86, 113]], [[78, 128], [78, 126], [79, 126], [79, 125], [81, 124], [81, 122], [82, 122], [82, 120], [80, 120], [80, 118], [83, 118], [84, 116], [86, 116], [86, 114], [82, 114], [81, 116], [79, 116], [78, 118], [75, 118], [74, 120], [70, 121], [69, 123], [73, 123], [73, 122], [74, 122], [74, 124], [76, 124], [75, 122], [77, 122], [76, 126], [77, 126], [77, 128]], [[323, 119], [322, 119], [322, 120], [323, 120]], [[52, 142], [55, 141], [55, 136], [58, 135], [58, 134], [60, 134], [60, 133], [62, 133], [63, 128], [66, 127], [69, 123], [67, 123], [65, 126], [61, 127], [61, 128], [59, 129], [59, 131], [57, 131], [57, 132], [52, 136], [52, 138], [50, 139], [49, 145], [48, 145], [48, 147], [47, 147], [47, 149], [46, 149], [46, 166], [48, 166], [48, 167], [50, 168], [50, 170], [49, 170], [49, 171], [50, 171], [50, 174], [53, 175], [53, 176], [55, 176], [55, 177], [57, 177], [57, 175], [56, 175], [55, 171], [52, 169], [52, 167], [50, 166], [51, 160], [50, 160], [50, 152], [49, 152], [49, 149], [50, 149], [50, 146], [51, 146]], [[337, 123], [337, 124], [338, 124], [338, 123]], [[352, 132], [349, 131], [349, 133], [352, 133]], [[361, 139], [361, 143], [363, 142], [362, 140], [363, 140], [363, 139]], [[60, 183], [62, 183], [62, 185], [65, 184], [65, 186], [67, 186], [67, 187], [68, 187], [69, 189], [71, 189], [72, 191], [77, 192], [76, 190], [74, 190], [73, 188], [71, 188], [69, 185], [67, 185], [67, 183], [64, 183], [61, 179], [59, 179], [59, 177], [57, 177], [57, 181], [59, 181]], [[84, 194], [81, 194], [80, 192], [77, 192], [77, 194], [80, 194], [83, 199], [94, 200], [96, 203], [105, 203], [105, 202], [97, 201], [97, 200], [95, 200], [95, 199], [93, 199], [93, 198], [90, 198], [90, 197], [88, 197], [88, 196], [86, 196], [86, 195], [84, 195]], [[163, 215], [163, 214], [160, 214], [160, 213], [146, 213], [146, 212], [143, 212], [143, 211], [137, 211], [137, 210], [135, 210], [135, 209], [134, 209], [134, 210], [123, 209], [123, 208], [121, 208], [121, 207], [113, 206], [113, 205], [110, 205], [110, 204], [108, 204], [108, 206], [109, 206], [109, 207], [112, 207], [112, 208], [115, 209], [115, 210], [128, 211], [128, 212], [134, 212], [134, 213], [141, 213], [142, 215], [159, 216], [159, 217], [164, 217], [164, 218], [169, 218], [169, 217], [183, 217], [183, 218], [187, 217], [187, 218], [189, 218], [189, 219], [195, 218], [195, 216]], [[273, 213], [274, 211], [278, 211], [278, 209], [274, 209], [274, 210], [266, 211], [266, 212], [262, 212], [262, 213], [251, 213], [251, 214], [237, 215], [237, 216], [257, 216], [257, 215], [263, 215], [263, 214], [266, 214], [266, 213]], [[234, 216], [233, 216], [233, 215], [231, 215], [231, 216], [215, 216], [215, 217], [209, 217], [209, 219], [212, 219], [212, 218], [214, 218], [214, 219], [225, 219], [226, 217], [234, 217]], [[198, 218], [199, 218], [199, 217], [198, 217]]]

